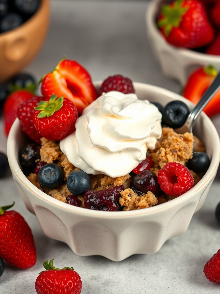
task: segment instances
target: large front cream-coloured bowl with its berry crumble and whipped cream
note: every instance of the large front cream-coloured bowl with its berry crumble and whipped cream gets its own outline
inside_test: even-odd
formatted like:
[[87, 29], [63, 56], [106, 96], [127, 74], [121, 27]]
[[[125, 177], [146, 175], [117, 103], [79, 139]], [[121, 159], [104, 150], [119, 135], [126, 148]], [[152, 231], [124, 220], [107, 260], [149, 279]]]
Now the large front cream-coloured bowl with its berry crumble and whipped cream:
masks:
[[61, 61], [41, 89], [18, 107], [7, 153], [45, 235], [78, 255], [120, 261], [184, 233], [219, 165], [207, 115], [197, 119], [196, 137], [178, 134], [173, 128], [193, 107], [187, 99], [121, 75], [92, 83], [75, 61]]

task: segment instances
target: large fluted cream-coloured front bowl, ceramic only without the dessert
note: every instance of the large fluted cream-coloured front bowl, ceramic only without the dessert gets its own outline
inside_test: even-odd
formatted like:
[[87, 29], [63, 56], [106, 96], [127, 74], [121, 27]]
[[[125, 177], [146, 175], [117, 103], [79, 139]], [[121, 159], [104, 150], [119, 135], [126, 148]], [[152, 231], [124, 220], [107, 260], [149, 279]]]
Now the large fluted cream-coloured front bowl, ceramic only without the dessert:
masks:
[[[100, 83], [95, 83], [98, 86]], [[139, 99], [160, 102], [173, 99], [192, 103], [182, 96], [160, 87], [134, 83]], [[135, 211], [94, 211], [58, 201], [36, 188], [22, 173], [18, 152], [27, 138], [19, 121], [13, 123], [7, 142], [11, 172], [23, 201], [36, 214], [50, 238], [67, 243], [78, 255], [102, 255], [120, 261], [137, 253], [155, 253], [163, 243], [185, 232], [195, 211], [204, 204], [216, 176], [220, 158], [219, 136], [211, 120], [201, 113], [194, 133], [205, 144], [211, 165], [205, 176], [187, 193], [158, 206]]]

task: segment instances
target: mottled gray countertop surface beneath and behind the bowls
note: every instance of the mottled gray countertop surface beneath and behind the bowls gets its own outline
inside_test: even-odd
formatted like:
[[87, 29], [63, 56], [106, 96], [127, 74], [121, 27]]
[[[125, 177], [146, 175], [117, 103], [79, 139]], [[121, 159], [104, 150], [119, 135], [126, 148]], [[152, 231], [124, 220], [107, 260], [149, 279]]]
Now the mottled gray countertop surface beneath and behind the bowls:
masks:
[[[120, 73], [133, 81], [180, 92], [180, 84], [161, 73], [146, 39], [148, 1], [53, 0], [51, 6], [48, 37], [40, 54], [27, 68], [37, 79], [67, 54], [68, 59], [81, 63], [93, 80]], [[213, 121], [220, 131], [220, 117]], [[0, 151], [6, 151], [2, 124]], [[14, 209], [32, 229], [37, 262], [28, 270], [6, 263], [0, 278], [0, 293], [36, 293], [34, 284], [43, 270], [43, 261], [53, 258], [56, 267], [75, 268], [82, 278], [82, 294], [219, 293], [220, 286], [209, 282], [203, 273], [206, 261], [220, 248], [220, 225], [214, 217], [220, 201], [219, 188], [220, 173], [187, 231], [168, 240], [158, 253], [133, 255], [114, 262], [101, 256], [78, 256], [66, 244], [46, 237], [36, 216], [24, 206], [9, 174], [0, 180], [1, 205], [16, 202]]]

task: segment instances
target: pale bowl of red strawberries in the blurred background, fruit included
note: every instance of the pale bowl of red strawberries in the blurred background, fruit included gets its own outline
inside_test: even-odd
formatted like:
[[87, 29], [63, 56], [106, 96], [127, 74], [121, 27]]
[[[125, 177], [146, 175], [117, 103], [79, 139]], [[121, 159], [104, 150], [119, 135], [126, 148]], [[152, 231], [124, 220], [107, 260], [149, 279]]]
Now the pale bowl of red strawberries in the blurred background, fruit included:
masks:
[[219, 13], [218, 0], [151, 1], [147, 36], [166, 76], [185, 85], [198, 67], [220, 70]]

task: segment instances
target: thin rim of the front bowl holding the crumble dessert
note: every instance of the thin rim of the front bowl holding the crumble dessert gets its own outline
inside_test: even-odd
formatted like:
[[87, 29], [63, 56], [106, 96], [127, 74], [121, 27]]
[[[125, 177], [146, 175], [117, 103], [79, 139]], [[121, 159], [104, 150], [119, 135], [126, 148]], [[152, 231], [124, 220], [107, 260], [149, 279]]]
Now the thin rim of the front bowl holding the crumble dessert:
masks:
[[[98, 87], [101, 84], [101, 81], [96, 81], [94, 82], [94, 86]], [[162, 87], [150, 85], [147, 83], [138, 83], [138, 82], [133, 82], [134, 88], [141, 87], [142, 89], [145, 89], [146, 91], [153, 91], [158, 94], [164, 94], [168, 98], [170, 97], [171, 99], [176, 99], [176, 100], [181, 100], [185, 102], [188, 106], [193, 106], [193, 104], [188, 101], [186, 98], [180, 96], [179, 94], [172, 92], [170, 90], [164, 89]], [[203, 178], [199, 181], [199, 185], [196, 184], [194, 187], [192, 187], [189, 191], [186, 193], [182, 194], [181, 196], [178, 196], [175, 199], [172, 199], [172, 201], [167, 201], [165, 203], [161, 203], [157, 206], [152, 206], [148, 208], [143, 208], [139, 210], [131, 210], [131, 211], [96, 211], [92, 209], [85, 209], [82, 207], [77, 207], [77, 206], [72, 206], [68, 205], [67, 203], [64, 203], [62, 201], [59, 201], [48, 194], [40, 191], [37, 187], [35, 187], [23, 174], [21, 171], [20, 166], [18, 165], [18, 161], [16, 159], [16, 133], [21, 131], [20, 128], [20, 123], [18, 118], [14, 121], [11, 130], [9, 132], [8, 140], [7, 140], [7, 156], [8, 156], [8, 161], [9, 165], [11, 168], [12, 173], [18, 178], [18, 180], [26, 186], [26, 188], [31, 192], [34, 193], [36, 196], [40, 197], [43, 202], [47, 202], [48, 204], [52, 204], [56, 207], [59, 207], [60, 209], [64, 209], [66, 211], [72, 211], [78, 215], [87, 215], [87, 216], [94, 216], [94, 217], [101, 217], [101, 218], [130, 218], [130, 217], [135, 217], [135, 216], [143, 216], [147, 214], [152, 214], [152, 213], [157, 213], [161, 210], [166, 210], [168, 208], [171, 208], [173, 206], [178, 206], [181, 202], [187, 200], [192, 196], [192, 194], [197, 193], [197, 191], [202, 190], [203, 186], [207, 182], [211, 182], [212, 179], [214, 179], [213, 174], [216, 173], [217, 168], [219, 166], [219, 161], [220, 161], [220, 139], [219, 139], [219, 134], [210, 120], [210, 118], [204, 113], [200, 113], [200, 116], [202, 119], [205, 121], [206, 125], [209, 126], [210, 128], [210, 133], [212, 133], [212, 137], [216, 137], [215, 141], [215, 148], [214, 152], [212, 154], [211, 158], [211, 164], [209, 166], [208, 171], [205, 173]], [[212, 142], [213, 143], [213, 142]], [[13, 175], [13, 176], [14, 176]], [[15, 180], [15, 178], [14, 178]], [[28, 197], [29, 198], [29, 197]]]

